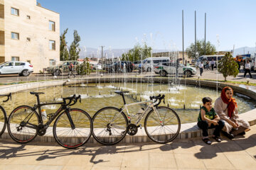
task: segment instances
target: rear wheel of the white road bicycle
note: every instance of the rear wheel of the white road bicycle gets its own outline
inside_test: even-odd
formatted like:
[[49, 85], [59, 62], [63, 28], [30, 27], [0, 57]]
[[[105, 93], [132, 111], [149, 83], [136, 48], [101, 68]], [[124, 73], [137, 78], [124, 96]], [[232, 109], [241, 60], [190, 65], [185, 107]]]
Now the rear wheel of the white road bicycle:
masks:
[[102, 108], [93, 115], [92, 135], [102, 145], [114, 145], [127, 134], [128, 120], [118, 108]]

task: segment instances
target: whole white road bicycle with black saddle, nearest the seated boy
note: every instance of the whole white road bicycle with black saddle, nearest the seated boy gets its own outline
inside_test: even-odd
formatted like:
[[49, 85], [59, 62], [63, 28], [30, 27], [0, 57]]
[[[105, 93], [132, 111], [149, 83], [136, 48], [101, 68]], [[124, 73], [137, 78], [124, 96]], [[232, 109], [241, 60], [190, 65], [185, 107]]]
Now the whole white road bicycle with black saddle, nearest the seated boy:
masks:
[[[142, 128], [139, 122], [145, 115], [144, 130], [151, 140], [164, 144], [171, 142], [177, 137], [181, 129], [181, 121], [173, 109], [159, 106], [161, 101], [164, 100], [164, 95], [151, 96], [150, 101], [127, 104], [124, 94], [129, 93], [129, 91], [114, 92], [122, 96], [124, 106], [122, 108], [102, 108], [93, 115], [94, 129], [92, 135], [97, 142], [100, 142], [102, 145], [114, 145], [122, 141], [127, 133], [129, 135], [136, 135], [138, 128]], [[129, 113], [129, 106], [146, 103], [149, 103], [146, 109], [142, 108], [135, 115]], [[124, 111], [126, 111], [127, 115], [124, 114]], [[135, 116], [138, 116], [138, 118], [136, 123], [132, 124], [131, 119]]]

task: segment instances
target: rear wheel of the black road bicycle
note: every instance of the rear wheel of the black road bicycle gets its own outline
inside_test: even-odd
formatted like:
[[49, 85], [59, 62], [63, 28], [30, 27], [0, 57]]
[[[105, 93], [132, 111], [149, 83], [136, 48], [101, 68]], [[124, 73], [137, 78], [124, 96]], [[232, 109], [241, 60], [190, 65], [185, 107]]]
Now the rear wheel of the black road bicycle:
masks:
[[30, 106], [18, 106], [8, 118], [9, 135], [18, 143], [31, 142], [37, 136], [39, 117]]

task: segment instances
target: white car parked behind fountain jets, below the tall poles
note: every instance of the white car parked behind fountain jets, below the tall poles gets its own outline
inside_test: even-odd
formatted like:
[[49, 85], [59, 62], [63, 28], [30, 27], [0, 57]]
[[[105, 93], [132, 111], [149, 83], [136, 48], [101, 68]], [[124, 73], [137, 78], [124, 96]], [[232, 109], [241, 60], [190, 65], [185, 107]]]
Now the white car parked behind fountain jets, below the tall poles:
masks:
[[[175, 62], [159, 63], [154, 67], [154, 72], [156, 74], [161, 74], [162, 77], [165, 77], [167, 74], [175, 74], [176, 63]], [[193, 74], [196, 74], [196, 68], [184, 66], [183, 64], [178, 64], [178, 74], [185, 74], [186, 77], [191, 77]]]

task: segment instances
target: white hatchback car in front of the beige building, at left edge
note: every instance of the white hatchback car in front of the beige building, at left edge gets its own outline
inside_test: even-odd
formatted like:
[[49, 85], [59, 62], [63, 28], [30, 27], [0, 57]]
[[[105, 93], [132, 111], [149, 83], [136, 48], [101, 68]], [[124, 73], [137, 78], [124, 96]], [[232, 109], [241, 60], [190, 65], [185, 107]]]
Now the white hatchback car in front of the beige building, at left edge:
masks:
[[27, 77], [33, 72], [29, 62], [4, 62], [0, 64], [0, 74], [19, 74]]

